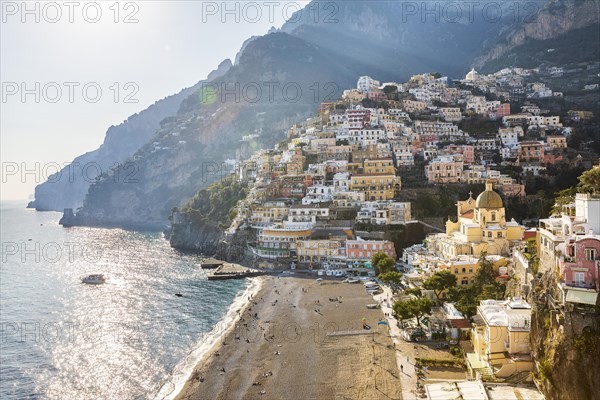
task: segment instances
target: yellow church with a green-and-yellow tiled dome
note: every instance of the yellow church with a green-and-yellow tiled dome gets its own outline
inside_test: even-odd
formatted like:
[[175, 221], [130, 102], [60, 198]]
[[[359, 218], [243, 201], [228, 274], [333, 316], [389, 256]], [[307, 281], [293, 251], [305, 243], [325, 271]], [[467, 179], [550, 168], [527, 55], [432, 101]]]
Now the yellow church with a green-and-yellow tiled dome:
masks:
[[446, 222], [446, 233], [430, 235], [436, 253], [443, 258], [459, 255], [479, 257], [482, 252], [489, 255], [507, 256], [510, 248], [523, 236], [525, 227], [517, 222], [506, 222], [504, 204], [500, 195], [487, 181], [485, 191], [477, 200], [471, 196], [459, 201], [456, 222]]

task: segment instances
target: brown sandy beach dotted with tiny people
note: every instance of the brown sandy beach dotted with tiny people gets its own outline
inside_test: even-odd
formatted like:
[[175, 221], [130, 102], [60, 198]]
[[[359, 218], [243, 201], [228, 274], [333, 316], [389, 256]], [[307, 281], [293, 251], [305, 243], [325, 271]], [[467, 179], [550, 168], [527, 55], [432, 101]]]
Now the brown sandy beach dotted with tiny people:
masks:
[[261, 279], [238, 324], [177, 399], [402, 398], [394, 345], [377, 323], [384, 314], [366, 308], [375, 301], [363, 285]]

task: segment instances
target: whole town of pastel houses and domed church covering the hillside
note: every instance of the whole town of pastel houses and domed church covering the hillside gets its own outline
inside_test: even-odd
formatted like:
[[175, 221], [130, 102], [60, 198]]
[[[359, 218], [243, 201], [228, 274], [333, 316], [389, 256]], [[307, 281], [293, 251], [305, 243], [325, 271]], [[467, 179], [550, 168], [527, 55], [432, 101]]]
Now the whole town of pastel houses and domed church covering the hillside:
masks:
[[[250, 189], [226, 240], [251, 232], [259, 266], [370, 277], [373, 293], [391, 288], [406, 341], [450, 347], [472, 380], [543, 385], [550, 366], [532, 326], [541, 320], [551, 337], [568, 324], [577, 339], [598, 324], [600, 167], [594, 148], [570, 146], [597, 116], [544, 109], [562, 93], [528, 82], [533, 73], [360, 77], [275, 148], [237, 164]], [[557, 199], [526, 192], [567, 181]], [[424, 204], [444, 188], [457, 201], [429, 223]]]

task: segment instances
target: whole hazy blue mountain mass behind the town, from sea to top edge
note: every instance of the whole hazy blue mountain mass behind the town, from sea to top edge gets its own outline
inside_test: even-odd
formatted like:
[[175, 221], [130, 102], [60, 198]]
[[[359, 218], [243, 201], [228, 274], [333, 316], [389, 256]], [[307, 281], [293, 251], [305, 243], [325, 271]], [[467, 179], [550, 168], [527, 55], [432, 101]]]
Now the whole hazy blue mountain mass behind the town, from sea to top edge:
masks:
[[[407, 8], [425, 3], [313, 1], [279, 31], [247, 40], [235, 65], [200, 85], [146, 144], [98, 177], [77, 215], [63, 222], [163, 229], [174, 207], [229, 173], [226, 161], [273, 146], [359, 76], [463, 76], [476, 57], [522, 25], [509, 3], [491, 0], [478, 2], [473, 18], [444, 14], [445, 3], [431, 3], [441, 7], [439, 17]], [[499, 4], [502, 17], [481, 17], [483, 7]]]

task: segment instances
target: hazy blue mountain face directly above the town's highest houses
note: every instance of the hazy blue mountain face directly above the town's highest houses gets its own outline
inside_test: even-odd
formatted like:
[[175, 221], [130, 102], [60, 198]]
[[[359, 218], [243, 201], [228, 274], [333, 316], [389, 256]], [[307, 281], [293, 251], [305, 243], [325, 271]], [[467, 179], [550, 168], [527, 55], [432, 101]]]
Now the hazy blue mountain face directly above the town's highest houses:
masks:
[[[531, 1], [540, 7], [546, 0]], [[518, 21], [510, 2], [313, 1], [282, 31], [354, 61], [369, 60], [379, 80], [439, 71], [463, 77]], [[489, 10], [493, 10], [489, 11]]]

